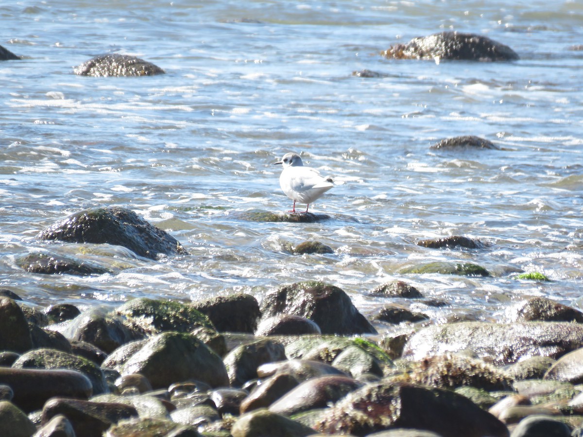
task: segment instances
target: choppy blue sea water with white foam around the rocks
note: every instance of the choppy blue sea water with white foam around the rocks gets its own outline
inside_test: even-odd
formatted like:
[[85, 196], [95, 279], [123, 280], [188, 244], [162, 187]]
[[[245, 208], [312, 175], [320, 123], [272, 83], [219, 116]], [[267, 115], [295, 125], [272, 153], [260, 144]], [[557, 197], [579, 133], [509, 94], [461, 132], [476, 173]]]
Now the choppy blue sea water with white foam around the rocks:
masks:
[[[445, 320], [498, 320], [525, 296], [583, 307], [583, 4], [578, 1], [62, 0], [0, 5], [0, 287], [38, 305], [201, 299], [300, 280], [369, 291], [405, 280], [448, 302], [411, 306]], [[396, 61], [395, 43], [442, 30], [509, 45], [515, 62]], [[107, 52], [166, 71], [92, 78], [73, 66]], [[370, 69], [384, 77], [354, 77]], [[430, 146], [478, 135], [501, 150]], [[331, 220], [253, 223], [283, 212], [288, 151], [340, 185], [311, 208]], [[46, 244], [37, 232], [73, 212], [120, 205], [191, 253], [154, 262], [112, 246]], [[484, 249], [420, 239], [465, 235]], [[293, 256], [316, 239], [333, 255]], [[27, 273], [15, 259], [50, 251], [115, 274]], [[432, 260], [492, 277], [401, 274]], [[541, 272], [552, 282], [512, 279]]]

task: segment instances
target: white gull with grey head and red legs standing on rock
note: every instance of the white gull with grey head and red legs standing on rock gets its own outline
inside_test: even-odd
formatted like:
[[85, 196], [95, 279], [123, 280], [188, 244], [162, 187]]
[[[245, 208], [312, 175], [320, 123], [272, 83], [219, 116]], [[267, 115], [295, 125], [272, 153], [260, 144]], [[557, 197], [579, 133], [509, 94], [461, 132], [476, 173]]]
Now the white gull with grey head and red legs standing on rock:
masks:
[[279, 185], [286, 196], [293, 200], [293, 207], [289, 213], [296, 212], [296, 202], [307, 204], [305, 207], [307, 213], [310, 203], [321, 198], [334, 186], [332, 179], [322, 177], [314, 168], [304, 167], [297, 153], [286, 153], [281, 161], [273, 164], [283, 166]]

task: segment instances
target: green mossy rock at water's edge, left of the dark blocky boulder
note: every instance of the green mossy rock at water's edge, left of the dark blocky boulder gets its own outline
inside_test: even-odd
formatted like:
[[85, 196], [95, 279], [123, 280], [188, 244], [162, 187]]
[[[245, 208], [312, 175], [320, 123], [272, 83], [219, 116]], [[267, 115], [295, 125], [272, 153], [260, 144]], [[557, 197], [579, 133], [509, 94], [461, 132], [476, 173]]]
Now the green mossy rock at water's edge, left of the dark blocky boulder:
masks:
[[127, 318], [127, 323], [146, 333], [163, 331], [190, 332], [197, 327], [214, 329], [213, 324], [192, 304], [168, 300], [138, 298], [118, 306], [115, 313]]

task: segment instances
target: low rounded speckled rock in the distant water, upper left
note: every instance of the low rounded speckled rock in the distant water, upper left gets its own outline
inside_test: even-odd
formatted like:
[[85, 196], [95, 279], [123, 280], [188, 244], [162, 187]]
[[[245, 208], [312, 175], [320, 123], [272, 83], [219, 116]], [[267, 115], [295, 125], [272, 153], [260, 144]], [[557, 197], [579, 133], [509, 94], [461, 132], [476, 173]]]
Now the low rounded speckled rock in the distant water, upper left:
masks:
[[163, 75], [164, 70], [152, 62], [130, 55], [111, 53], [99, 55], [76, 66], [73, 71], [80, 76], [154, 76]]

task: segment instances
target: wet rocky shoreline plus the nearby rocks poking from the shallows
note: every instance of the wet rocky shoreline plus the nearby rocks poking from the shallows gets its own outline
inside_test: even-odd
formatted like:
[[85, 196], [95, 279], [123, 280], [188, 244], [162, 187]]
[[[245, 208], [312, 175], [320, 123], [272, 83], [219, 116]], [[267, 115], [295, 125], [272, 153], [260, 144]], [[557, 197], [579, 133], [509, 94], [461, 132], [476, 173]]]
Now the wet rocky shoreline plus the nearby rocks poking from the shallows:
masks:
[[[72, 214], [37, 238], [48, 246], [116, 244], [153, 260], [187, 253], [121, 207]], [[418, 244], [484, 246], [459, 236]], [[327, 253], [317, 242], [289, 252]], [[44, 274], [107, 272], [46, 253], [21, 266]], [[419, 268], [490, 274], [468, 263]], [[371, 294], [431, 300], [403, 281]], [[383, 332], [378, 322], [399, 329]], [[581, 354], [583, 313], [542, 297], [496, 322], [438, 324], [392, 304], [367, 318], [345, 291], [317, 281], [280, 286], [261, 304], [243, 293], [196, 302], [134, 298], [113, 311], [39, 309], [1, 290], [0, 434], [526, 437], [542, 429], [579, 436]]]

